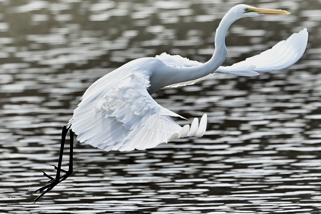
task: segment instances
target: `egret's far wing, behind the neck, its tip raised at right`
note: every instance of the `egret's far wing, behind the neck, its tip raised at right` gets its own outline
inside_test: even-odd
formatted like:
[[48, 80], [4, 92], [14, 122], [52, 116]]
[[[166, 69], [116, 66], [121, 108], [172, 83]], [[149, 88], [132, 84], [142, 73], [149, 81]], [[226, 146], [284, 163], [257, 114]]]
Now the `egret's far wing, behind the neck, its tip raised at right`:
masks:
[[[308, 43], [307, 29], [299, 33], [293, 33], [288, 39], [278, 42], [271, 49], [262, 52], [259, 55], [247, 58], [244, 61], [235, 63], [231, 66], [220, 66], [214, 73], [208, 74], [202, 78], [172, 84], [166, 87], [179, 87], [193, 85], [202, 81], [215, 73], [229, 73], [239, 76], [256, 76], [258, 72], [277, 71], [296, 63], [303, 55]], [[171, 56], [166, 53], [156, 56], [163, 62], [178, 67], [191, 67], [201, 65], [202, 63], [183, 58], [179, 55]]]

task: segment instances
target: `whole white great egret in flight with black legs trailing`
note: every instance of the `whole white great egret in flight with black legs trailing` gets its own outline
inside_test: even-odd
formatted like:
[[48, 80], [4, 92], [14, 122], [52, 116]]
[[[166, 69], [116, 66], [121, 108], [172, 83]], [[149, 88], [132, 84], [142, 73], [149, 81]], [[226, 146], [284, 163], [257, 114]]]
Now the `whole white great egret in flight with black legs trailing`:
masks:
[[[260, 14], [290, 12], [236, 5], [226, 13], [216, 30], [215, 51], [208, 62], [202, 64], [164, 53], [156, 57], [135, 59], [94, 82], [82, 96], [72, 119], [63, 127], [58, 166], [54, 166], [57, 170], [56, 177], [43, 172], [50, 181], [34, 192], [45, 190], [34, 201], [72, 174], [74, 132], [80, 142], [106, 151], [144, 150], [177, 138], [202, 136], [206, 130], [206, 114], [202, 116], [200, 123], [195, 118], [191, 126], [181, 127], [170, 116], [183, 117], [161, 107], [150, 95], [163, 87], [194, 84], [213, 73], [255, 76], [258, 75], [257, 72], [279, 70], [297, 62], [307, 45], [306, 29], [260, 55], [232, 66], [220, 67], [227, 54], [225, 35], [230, 25], [240, 18]], [[66, 171], [61, 169], [61, 162], [68, 130], [70, 156], [69, 170]], [[65, 174], [60, 175], [61, 171]]]

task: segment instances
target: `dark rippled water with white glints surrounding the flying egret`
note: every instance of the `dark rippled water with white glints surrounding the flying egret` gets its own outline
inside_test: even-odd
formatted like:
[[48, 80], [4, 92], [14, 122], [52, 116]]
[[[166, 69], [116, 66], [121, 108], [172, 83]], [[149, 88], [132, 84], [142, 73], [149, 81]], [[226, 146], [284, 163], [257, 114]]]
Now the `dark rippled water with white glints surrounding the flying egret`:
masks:
[[[74, 174], [32, 204], [92, 82], [162, 52], [208, 60], [220, 19], [239, 3], [292, 14], [235, 22], [225, 65], [307, 27], [302, 59], [158, 91], [157, 102], [184, 117], [207, 113], [205, 136], [133, 152], [76, 142]], [[1, 0], [1, 213], [321, 213], [320, 14], [314, 0]]]

